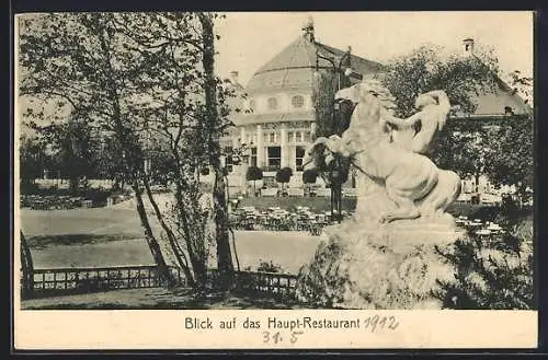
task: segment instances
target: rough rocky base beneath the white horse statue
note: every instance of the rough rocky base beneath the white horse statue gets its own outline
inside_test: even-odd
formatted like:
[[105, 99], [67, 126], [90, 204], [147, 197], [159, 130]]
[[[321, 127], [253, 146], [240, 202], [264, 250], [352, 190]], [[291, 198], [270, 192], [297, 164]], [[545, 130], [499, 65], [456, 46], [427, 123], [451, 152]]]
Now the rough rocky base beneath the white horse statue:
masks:
[[455, 271], [435, 247], [461, 236], [449, 220], [443, 213], [379, 224], [362, 212], [326, 228], [329, 240], [299, 271], [298, 299], [322, 307], [442, 309], [436, 280], [450, 281]]

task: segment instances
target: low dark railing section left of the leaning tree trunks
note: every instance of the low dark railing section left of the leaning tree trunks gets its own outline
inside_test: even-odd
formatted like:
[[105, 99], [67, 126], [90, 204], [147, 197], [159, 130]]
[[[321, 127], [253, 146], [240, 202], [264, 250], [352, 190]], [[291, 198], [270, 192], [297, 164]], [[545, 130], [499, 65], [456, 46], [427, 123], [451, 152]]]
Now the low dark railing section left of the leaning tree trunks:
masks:
[[[178, 267], [170, 267], [170, 271], [179, 284], [185, 284]], [[164, 284], [153, 265], [35, 269], [32, 282], [31, 297], [158, 288]]]

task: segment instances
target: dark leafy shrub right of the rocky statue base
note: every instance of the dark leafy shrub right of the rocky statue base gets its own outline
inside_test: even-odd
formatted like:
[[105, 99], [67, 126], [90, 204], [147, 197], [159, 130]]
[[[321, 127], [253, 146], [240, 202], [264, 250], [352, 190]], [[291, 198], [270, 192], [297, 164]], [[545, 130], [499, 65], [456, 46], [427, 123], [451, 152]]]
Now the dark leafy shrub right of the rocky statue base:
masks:
[[[487, 241], [468, 234], [450, 251], [441, 251], [456, 266], [455, 281], [439, 282], [435, 295], [447, 309], [536, 309], [533, 284], [533, 216], [521, 225]], [[530, 228], [530, 229], [529, 229]]]

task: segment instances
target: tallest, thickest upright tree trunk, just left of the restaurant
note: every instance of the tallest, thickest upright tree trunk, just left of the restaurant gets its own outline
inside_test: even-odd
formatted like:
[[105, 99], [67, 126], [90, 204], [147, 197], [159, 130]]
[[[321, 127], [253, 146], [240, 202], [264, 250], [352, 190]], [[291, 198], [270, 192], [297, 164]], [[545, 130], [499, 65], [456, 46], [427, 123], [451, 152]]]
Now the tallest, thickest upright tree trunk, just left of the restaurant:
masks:
[[222, 290], [228, 290], [233, 279], [233, 263], [230, 249], [230, 235], [226, 202], [225, 175], [220, 163], [220, 146], [218, 135], [217, 112], [217, 82], [215, 79], [215, 46], [214, 24], [209, 13], [199, 13], [202, 24], [202, 38], [204, 43], [203, 66], [205, 73], [205, 105], [206, 124], [208, 130], [209, 163], [214, 170], [215, 181], [213, 188], [215, 230], [217, 242], [217, 266], [219, 270], [219, 284]]

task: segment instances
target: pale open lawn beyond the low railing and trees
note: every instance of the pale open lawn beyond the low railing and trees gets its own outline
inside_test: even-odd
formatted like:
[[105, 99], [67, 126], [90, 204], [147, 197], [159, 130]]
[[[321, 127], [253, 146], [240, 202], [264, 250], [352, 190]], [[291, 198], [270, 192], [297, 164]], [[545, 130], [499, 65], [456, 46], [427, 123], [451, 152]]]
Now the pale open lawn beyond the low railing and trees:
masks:
[[[127, 209], [27, 210], [21, 225], [36, 268], [153, 264], [135, 211]], [[240, 267], [262, 262], [296, 272], [322, 237], [305, 232], [236, 231]]]

